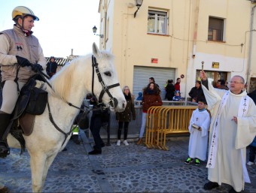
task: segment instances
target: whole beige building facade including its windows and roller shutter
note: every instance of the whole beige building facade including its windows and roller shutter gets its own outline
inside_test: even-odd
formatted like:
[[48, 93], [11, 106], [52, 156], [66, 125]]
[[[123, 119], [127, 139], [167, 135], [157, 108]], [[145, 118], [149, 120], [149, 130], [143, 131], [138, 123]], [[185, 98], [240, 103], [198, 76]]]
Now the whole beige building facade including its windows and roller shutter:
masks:
[[253, 90], [255, 5], [248, 0], [145, 0], [136, 7], [134, 0], [100, 0], [99, 47], [114, 54], [120, 85], [130, 86], [134, 95], [154, 77], [164, 98], [166, 80], [181, 77], [181, 96], [187, 97], [202, 68], [213, 85], [239, 74]]

